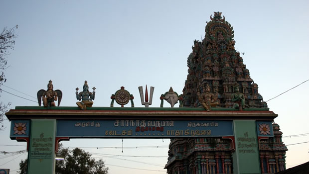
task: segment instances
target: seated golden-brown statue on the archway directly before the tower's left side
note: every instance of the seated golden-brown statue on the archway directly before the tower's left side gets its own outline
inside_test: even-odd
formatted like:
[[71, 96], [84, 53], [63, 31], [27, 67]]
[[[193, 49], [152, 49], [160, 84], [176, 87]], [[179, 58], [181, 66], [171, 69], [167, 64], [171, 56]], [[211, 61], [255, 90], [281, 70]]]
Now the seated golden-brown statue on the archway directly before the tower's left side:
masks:
[[202, 93], [197, 91], [197, 97], [200, 103], [207, 111], [211, 110], [211, 106], [216, 107], [216, 105], [218, 104], [217, 101], [215, 100], [214, 94], [210, 92], [210, 87], [208, 84], [206, 84], [206, 86], [203, 87]]

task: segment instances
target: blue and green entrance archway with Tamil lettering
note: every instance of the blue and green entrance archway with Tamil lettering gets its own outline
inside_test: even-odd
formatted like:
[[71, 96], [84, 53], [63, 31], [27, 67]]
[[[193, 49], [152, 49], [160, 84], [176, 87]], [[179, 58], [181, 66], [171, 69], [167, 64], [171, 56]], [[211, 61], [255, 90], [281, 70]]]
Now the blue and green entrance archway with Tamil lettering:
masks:
[[[272, 129], [260, 125], [271, 128], [277, 114], [267, 108], [207, 112], [203, 108], [17, 106], [6, 116], [11, 121], [10, 138], [28, 144], [28, 174], [53, 174], [58, 142], [70, 138], [201, 137], [231, 140], [234, 173], [248, 169], [260, 173], [258, 139], [273, 136]], [[200, 165], [196, 169], [202, 174]]]

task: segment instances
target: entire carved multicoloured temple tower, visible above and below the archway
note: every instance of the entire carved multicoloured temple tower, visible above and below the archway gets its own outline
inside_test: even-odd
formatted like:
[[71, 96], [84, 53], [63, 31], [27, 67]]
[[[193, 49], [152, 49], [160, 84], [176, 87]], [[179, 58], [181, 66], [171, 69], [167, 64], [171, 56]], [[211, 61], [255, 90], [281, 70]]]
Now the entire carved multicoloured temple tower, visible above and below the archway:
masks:
[[[203, 101], [206, 95], [201, 96], [201, 93], [209, 88], [208, 105], [212, 110], [218, 107], [235, 107], [237, 101], [234, 93], [237, 92], [244, 97], [236, 106], [239, 110], [267, 108], [267, 103], [258, 91], [258, 85], [250, 78], [241, 53], [234, 48], [233, 27], [224, 16], [222, 18], [221, 12], [214, 12], [210, 19], [205, 27], [205, 38], [202, 41], [194, 40], [192, 53], [187, 59], [188, 75], [182, 94], [183, 106], [207, 109], [207, 101]], [[240, 92], [235, 91], [235, 88]], [[267, 126], [263, 127], [263, 124], [258, 126], [259, 130], [270, 130]], [[285, 154], [288, 149], [282, 142], [279, 125], [272, 124], [272, 127], [273, 137], [258, 138], [262, 174], [275, 174], [286, 170]], [[266, 132], [263, 134], [267, 134]], [[249, 143], [242, 144], [239, 141], [238, 148], [256, 146], [250, 143], [248, 135], [245, 134], [243, 138], [248, 139]], [[231, 140], [222, 137], [173, 138], [169, 144], [165, 169], [167, 174], [237, 174], [239, 171], [235, 170], [234, 152]], [[252, 162], [248, 159], [247, 163]]]

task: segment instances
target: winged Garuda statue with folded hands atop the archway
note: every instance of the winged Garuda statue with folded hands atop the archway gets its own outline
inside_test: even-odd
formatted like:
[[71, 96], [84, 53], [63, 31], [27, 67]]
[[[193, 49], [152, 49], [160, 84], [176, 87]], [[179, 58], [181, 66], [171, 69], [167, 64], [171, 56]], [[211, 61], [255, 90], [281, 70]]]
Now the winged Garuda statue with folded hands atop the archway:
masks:
[[55, 101], [58, 99], [58, 106], [60, 105], [62, 98], [62, 91], [57, 89], [53, 90], [52, 81], [50, 80], [47, 85], [47, 90], [40, 89], [37, 91], [37, 101], [39, 106], [41, 106], [41, 99], [43, 99], [44, 107], [56, 106]]

